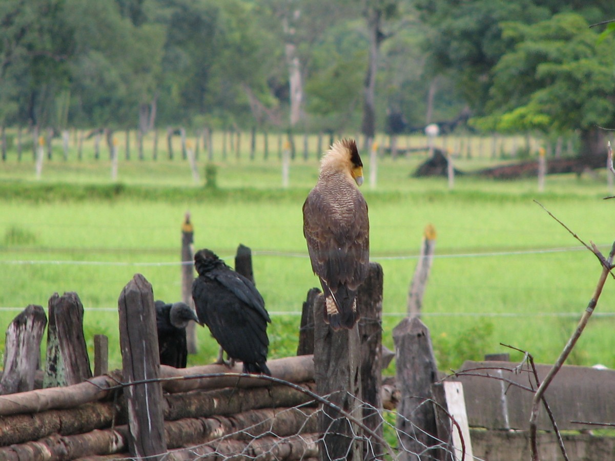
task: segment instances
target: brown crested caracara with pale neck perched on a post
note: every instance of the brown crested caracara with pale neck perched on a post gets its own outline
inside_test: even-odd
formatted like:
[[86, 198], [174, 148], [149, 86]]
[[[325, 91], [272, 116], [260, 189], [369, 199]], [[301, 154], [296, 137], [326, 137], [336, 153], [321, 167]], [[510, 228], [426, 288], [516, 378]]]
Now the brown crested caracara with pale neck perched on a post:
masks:
[[303, 204], [303, 235], [333, 329], [352, 328], [360, 317], [356, 294], [370, 261], [367, 202], [357, 187], [362, 183], [357, 144], [337, 141], [320, 160], [318, 183]]

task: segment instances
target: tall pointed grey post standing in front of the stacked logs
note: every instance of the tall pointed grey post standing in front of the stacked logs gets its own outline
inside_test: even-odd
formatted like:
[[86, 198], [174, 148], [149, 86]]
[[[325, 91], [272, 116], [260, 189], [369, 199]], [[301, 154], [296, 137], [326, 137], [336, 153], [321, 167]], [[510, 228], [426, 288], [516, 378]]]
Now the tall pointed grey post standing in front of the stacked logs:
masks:
[[[152, 286], [135, 274], [117, 300], [122, 349], [122, 380], [156, 380], [160, 376], [158, 333]], [[161, 460], [167, 452], [160, 382], [124, 387], [128, 408], [130, 455]], [[160, 456], [156, 456], [160, 455]]]

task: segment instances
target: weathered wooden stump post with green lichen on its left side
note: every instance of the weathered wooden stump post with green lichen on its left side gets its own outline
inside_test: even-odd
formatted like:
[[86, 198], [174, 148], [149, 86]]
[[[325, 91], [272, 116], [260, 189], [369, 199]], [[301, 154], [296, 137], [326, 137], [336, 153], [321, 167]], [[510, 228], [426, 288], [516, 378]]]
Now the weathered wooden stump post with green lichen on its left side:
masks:
[[83, 304], [77, 293], [49, 298], [47, 363], [43, 387], [60, 387], [90, 379], [90, 358], [83, 334]]

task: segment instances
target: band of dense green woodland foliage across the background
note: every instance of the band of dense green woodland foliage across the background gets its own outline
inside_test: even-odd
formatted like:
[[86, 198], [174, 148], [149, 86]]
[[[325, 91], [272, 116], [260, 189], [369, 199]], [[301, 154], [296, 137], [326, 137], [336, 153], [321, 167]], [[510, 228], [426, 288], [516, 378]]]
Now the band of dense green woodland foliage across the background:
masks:
[[2, 2], [0, 125], [387, 130], [391, 116], [408, 130], [467, 106], [485, 130], [585, 130], [615, 118], [613, 37], [588, 27], [614, 14], [561, 0]]

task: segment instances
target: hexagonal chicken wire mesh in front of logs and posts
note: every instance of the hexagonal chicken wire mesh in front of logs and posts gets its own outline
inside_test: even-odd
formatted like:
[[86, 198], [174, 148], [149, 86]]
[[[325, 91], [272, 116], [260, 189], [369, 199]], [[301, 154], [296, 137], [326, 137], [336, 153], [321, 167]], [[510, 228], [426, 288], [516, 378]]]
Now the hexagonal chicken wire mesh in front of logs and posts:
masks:
[[[455, 449], [449, 436], [440, 439], [419, 427], [413, 415], [402, 417], [396, 411], [378, 411], [354, 396], [352, 408], [339, 409], [335, 404], [322, 403], [328, 397], [292, 408], [200, 418], [196, 424], [208, 427], [202, 443], [172, 448], [173, 440], [169, 440], [165, 455], [129, 459], [317, 460], [320, 451], [323, 459], [331, 461], [478, 459], [463, 449]], [[421, 412], [424, 406], [436, 408], [437, 403], [422, 399], [416, 409]], [[440, 423], [456, 430], [450, 416], [444, 419], [440, 412]]]

